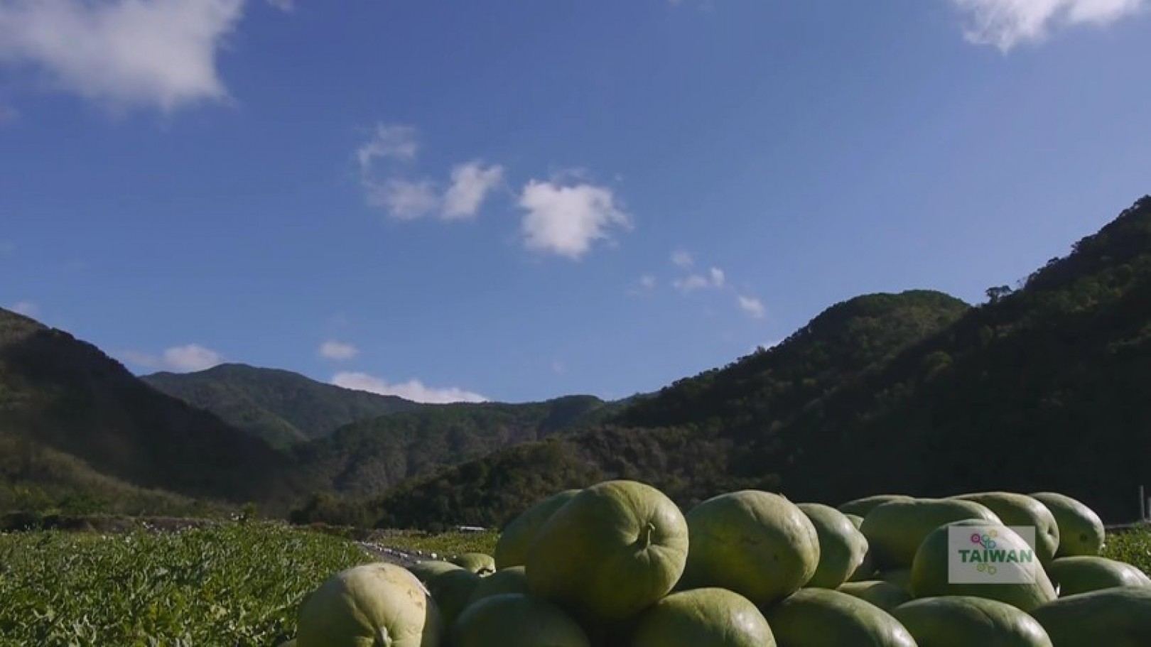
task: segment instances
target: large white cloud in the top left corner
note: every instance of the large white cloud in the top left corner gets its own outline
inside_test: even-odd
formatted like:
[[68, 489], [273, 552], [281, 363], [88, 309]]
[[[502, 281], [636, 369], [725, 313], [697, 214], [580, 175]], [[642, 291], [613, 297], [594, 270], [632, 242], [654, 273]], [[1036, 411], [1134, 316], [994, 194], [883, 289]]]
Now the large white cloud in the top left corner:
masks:
[[0, 1], [0, 62], [113, 109], [227, 100], [216, 69], [244, 0]]

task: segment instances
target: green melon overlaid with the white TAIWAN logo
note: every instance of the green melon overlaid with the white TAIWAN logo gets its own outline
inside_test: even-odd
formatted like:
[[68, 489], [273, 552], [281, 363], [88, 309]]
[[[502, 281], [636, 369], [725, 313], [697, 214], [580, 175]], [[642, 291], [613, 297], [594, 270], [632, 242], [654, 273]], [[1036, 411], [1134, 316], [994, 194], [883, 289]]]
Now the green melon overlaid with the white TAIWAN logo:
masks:
[[[1003, 571], [1000, 578], [1006, 578], [1008, 571], [1015, 571], [1019, 574], [1017, 579], [1026, 581], [975, 584], [953, 581], [954, 578], [952, 578], [948, 564], [948, 558], [952, 556], [952, 549], [948, 545], [948, 530], [951, 527], [971, 527], [975, 533], [984, 533], [989, 536], [994, 532], [994, 550], [989, 553], [999, 555], [994, 566]], [[970, 534], [966, 536], [970, 536]], [[969, 546], [969, 550], [982, 550], [980, 545], [969, 541], [962, 546]], [[1005, 561], [1011, 554], [1016, 556], [1016, 562]], [[1022, 536], [1001, 524], [988, 524], [983, 519], [968, 519], [940, 526], [923, 540], [915, 554], [915, 563], [912, 565], [912, 595], [915, 597], [971, 595], [998, 600], [1023, 611], [1030, 611], [1054, 600], [1055, 588], [1043, 570], [1038, 556], [1035, 555], [1035, 549]]]

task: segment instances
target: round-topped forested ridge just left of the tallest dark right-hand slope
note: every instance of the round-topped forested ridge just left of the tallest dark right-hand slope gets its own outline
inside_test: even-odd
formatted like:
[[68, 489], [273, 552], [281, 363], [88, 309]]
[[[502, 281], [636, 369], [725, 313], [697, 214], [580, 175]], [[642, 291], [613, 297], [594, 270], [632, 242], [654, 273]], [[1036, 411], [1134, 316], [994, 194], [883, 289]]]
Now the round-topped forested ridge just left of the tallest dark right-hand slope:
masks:
[[608, 478], [658, 484], [685, 505], [710, 493], [773, 488], [777, 473], [746, 460], [753, 439], [770, 437], [810, 402], [968, 310], [928, 290], [856, 297], [775, 348], [639, 398], [602, 425], [401, 484], [357, 513], [395, 526], [498, 525], [547, 492]]

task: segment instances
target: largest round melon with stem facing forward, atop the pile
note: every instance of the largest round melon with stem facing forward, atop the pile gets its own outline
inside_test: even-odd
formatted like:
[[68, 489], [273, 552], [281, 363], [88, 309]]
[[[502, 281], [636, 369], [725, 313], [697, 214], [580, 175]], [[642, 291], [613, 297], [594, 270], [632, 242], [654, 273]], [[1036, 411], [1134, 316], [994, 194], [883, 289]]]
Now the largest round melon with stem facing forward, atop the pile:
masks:
[[656, 488], [613, 480], [585, 488], [540, 528], [527, 586], [578, 617], [630, 617], [666, 595], [687, 560], [687, 523]]

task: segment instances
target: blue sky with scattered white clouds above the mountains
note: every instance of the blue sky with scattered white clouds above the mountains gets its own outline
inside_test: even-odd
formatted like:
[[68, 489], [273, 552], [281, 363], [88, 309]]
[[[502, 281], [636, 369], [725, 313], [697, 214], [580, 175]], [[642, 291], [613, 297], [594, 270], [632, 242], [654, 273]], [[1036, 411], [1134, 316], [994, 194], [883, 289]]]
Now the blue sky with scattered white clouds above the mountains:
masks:
[[0, 305], [132, 371], [623, 397], [1151, 192], [1143, 0], [0, 0]]

